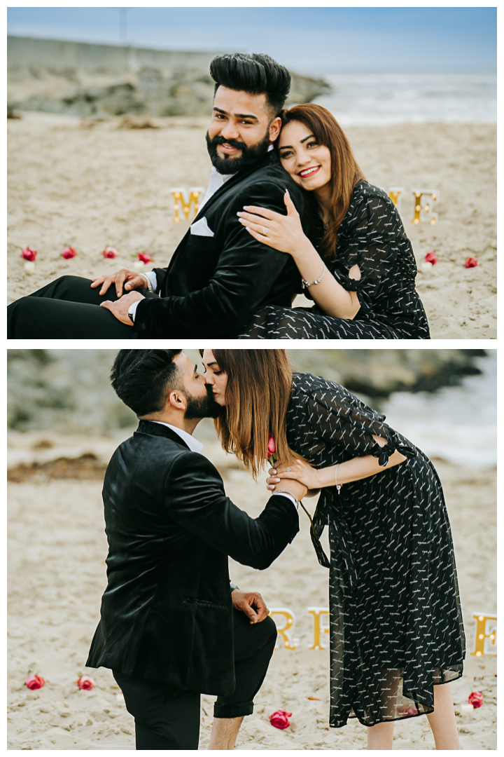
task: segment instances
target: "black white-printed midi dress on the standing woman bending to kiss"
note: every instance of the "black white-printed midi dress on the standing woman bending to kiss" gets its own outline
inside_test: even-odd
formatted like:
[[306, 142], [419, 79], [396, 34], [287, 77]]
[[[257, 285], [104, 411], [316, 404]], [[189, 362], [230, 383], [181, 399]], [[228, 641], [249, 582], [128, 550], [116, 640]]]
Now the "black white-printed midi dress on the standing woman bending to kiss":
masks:
[[[410, 441], [342, 386], [294, 375], [287, 440], [316, 468], [373, 455], [376, 475], [324, 488], [313, 519], [329, 568], [330, 725], [433, 712], [434, 684], [462, 675], [465, 637], [443, 489]], [[380, 447], [373, 435], [387, 440]], [[329, 526], [330, 561], [318, 538]]]

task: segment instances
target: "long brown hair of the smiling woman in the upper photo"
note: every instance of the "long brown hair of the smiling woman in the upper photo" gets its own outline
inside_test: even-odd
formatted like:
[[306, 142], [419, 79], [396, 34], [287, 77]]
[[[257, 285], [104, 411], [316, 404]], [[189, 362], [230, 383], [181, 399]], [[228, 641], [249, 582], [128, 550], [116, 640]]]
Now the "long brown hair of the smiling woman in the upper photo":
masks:
[[[331, 219], [321, 246], [323, 257], [335, 257], [338, 229], [348, 213], [355, 185], [364, 179], [363, 173], [342, 127], [325, 107], [314, 103], [295, 105], [289, 111], [282, 111], [280, 116], [282, 126], [292, 121], [304, 124], [319, 145], [324, 145], [331, 154]], [[278, 140], [275, 144], [278, 144]], [[316, 218], [311, 203], [306, 203], [305, 210], [311, 226], [314, 227]]]

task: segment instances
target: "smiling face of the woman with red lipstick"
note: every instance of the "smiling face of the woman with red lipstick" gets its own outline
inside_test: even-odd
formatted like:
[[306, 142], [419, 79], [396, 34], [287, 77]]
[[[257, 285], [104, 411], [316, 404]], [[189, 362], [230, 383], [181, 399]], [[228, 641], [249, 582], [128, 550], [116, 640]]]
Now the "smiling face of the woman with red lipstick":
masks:
[[331, 154], [300, 121], [291, 121], [280, 132], [280, 161], [295, 183], [313, 192], [331, 180]]

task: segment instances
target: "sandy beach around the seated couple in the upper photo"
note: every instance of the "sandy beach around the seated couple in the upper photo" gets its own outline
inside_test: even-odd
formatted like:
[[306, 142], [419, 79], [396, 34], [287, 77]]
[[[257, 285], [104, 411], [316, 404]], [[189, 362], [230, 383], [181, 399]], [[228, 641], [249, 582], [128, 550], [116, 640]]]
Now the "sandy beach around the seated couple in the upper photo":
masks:
[[[131, 267], [143, 251], [165, 266], [189, 223], [172, 223], [170, 188], [208, 182], [207, 120], [21, 116], [8, 122], [8, 301], [63, 274]], [[142, 124], [156, 128], [131, 128]], [[496, 127], [431, 123], [346, 132], [369, 182], [404, 187], [402, 218], [419, 265], [427, 252], [438, 255], [416, 279], [431, 337], [496, 338]], [[441, 192], [438, 224], [411, 223], [413, 188]], [[63, 260], [63, 245], [78, 256]], [[119, 257], [104, 260], [106, 245]], [[38, 252], [32, 275], [20, 257], [26, 246]], [[467, 257], [480, 265], [465, 269]]]

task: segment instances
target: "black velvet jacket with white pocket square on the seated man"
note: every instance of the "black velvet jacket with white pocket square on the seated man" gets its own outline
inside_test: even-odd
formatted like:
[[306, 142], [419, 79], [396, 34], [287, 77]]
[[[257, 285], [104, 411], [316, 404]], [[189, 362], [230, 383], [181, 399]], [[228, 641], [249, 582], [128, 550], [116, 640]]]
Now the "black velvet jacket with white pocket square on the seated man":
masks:
[[233, 338], [264, 305], [291, 307], [292, 295], [301, 291], [292, 257], [255, 240], [237, 217], [244, 205], [285, 214], [286, 188], [308, 232], [301, 189], [274, 151], [212, 195], [193, 223], [205, 217], [214, 236], [194, 235], [189, 229], [168, 269], [155, 269], [160, 298], [138, 305], [139, 338]]

